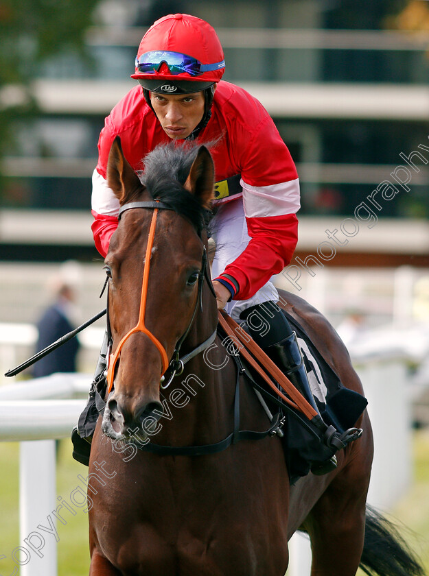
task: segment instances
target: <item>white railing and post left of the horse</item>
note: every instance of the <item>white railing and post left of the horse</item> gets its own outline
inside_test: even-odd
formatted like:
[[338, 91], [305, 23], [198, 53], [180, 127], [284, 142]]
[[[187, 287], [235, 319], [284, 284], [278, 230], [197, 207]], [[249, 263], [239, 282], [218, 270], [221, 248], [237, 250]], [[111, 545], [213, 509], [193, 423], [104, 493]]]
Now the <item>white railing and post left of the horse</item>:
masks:
[[85, 374], [53, 374], [0, 387], [0, 440], [21, 442], [20, 543], [10, 551], [14, 561], [13, 575], [19, 566], [21, 576], [57, 576], [54, 439], [70, 437], [85, 405], [82, 398], [58, 398], [86, 395], [90, 382], [91, 376]]

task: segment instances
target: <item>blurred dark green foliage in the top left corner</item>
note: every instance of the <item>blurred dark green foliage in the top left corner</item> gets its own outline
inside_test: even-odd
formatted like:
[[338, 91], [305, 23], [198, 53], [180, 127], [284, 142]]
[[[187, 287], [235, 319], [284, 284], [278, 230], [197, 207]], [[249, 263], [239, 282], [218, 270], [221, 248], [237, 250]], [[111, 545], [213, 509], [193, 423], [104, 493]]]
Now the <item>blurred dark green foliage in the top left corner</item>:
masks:
[[[32, 80], [53, 56], [86, 58], [84, 32], [100, 0], [0, 0], [0, 158], [13, 125], [37, 113]], [[10, 96], [14, 86], [16, 96]]]

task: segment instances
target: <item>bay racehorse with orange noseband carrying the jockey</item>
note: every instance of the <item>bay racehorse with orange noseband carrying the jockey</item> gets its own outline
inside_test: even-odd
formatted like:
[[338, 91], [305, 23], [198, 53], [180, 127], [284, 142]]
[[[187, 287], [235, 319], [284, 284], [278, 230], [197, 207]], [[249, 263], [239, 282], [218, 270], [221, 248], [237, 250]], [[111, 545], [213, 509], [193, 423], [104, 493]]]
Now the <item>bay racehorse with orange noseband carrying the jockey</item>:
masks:
[[[367, 508], [367, 411], [337, 468], [294, 485], [279, 435], [262, 434], [266, 413], [216, 332], [207, 147], [156, 148], [143, 181], [115, 139], [107, 182], [121, 208], [105, 259], [112, 348], [89, 464], [90, 576], [283, 576], [298, 530], [310, 536], [312, 576], [354, 576], [359, 566], [423, 574]], [[340, 380], [363, 394], [325, 317], [291, 293], [282, 300]], [[237, 389], [240, 427], [261, 433], [255, 440], [231, 441]]]

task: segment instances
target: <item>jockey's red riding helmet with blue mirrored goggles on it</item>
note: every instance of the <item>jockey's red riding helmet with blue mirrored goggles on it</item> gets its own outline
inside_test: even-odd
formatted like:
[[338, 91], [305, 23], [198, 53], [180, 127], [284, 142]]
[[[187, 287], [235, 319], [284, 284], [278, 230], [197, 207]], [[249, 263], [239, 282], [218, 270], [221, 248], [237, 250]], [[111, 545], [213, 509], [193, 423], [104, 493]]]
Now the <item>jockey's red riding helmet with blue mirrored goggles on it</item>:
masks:
[[177, 86], [177, 92], [196, 92], [219, 82], [224, 69], [224, 53], [213, 27], [196, 16], [169, 14], [143, 36], [131, 77], [151, 91], [168, 91], [161, 86], [166, 80], [167, 86]]

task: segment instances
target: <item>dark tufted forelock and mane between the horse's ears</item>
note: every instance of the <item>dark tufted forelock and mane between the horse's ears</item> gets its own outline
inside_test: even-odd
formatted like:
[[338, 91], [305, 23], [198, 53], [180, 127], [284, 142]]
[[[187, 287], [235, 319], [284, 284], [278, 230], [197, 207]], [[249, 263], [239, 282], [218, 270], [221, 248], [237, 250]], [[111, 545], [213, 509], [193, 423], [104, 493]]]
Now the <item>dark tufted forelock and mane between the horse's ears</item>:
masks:
[[139, 176], [152, 198], [171, 206], [200, 232], [207, 225], [207, 210], [183, 188], [197, 154], [198, 145], [192, 143], [159, 145], [143, 159]]

